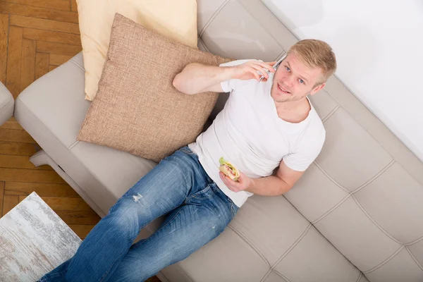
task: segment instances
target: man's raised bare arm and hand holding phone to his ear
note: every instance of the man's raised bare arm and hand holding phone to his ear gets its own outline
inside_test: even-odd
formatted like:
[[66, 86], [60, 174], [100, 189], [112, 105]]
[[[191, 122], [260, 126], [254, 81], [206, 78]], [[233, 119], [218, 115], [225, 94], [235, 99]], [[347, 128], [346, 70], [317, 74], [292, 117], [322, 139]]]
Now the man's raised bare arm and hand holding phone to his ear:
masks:
[[[264, 73], [265, 78], [269, 75], [263, 68], [274, 72], [271, 67], [275, 62], [263, 63], [261, 61], [247, 61], [237, 66], [207, 66], [201, 63], [190, 63], [183, 71], [173, 79], [173, 86], [185, 94], [197, 94], [202, 92], [223, 92], [221, 82], [231, 79], [250, 80], [260, 79], [257, 71]], [[265, 81], [266, 79], [264, 79]]]

